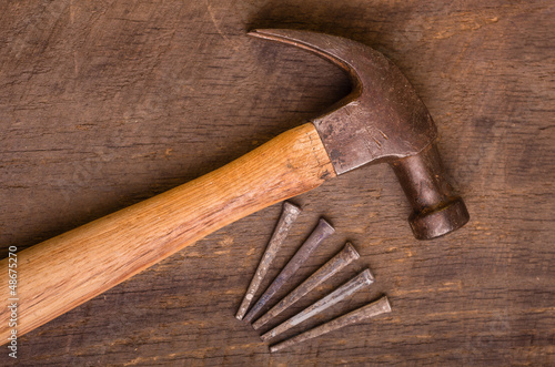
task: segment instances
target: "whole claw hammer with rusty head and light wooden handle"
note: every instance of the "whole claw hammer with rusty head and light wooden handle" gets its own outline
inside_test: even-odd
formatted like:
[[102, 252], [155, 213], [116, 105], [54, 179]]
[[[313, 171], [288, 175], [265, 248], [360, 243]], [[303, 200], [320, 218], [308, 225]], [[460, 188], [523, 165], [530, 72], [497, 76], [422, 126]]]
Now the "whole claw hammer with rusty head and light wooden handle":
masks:
[[[468, 221], [464, 202], [443, 176], [434, 122], [391, 61], [364, 44], [316, 32], [249, 34], [330, 60], [349, 73], [353, 91], [311, 123], [216, 171], [18, 253], [17, 336], [230, 223], [367, 163], [393, 167], [413, 207], [408, 222], [416, 238], [445, 235]], [[12, 263], [0, 263], [4, 300], [14, 298]], [[0, 313], [6, 343], [11, 310]]]

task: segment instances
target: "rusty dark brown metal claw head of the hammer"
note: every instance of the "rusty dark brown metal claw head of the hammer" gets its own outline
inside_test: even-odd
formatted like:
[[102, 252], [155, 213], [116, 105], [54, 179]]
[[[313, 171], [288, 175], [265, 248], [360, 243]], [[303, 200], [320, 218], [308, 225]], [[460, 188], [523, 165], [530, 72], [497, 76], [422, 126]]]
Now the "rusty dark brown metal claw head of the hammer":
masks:
[[349, 73], [353, 91], [313, 120], [337, 174], [387, 162], [413, 213], [414, 236], [430, 239], [468, 222], [468, 212], [445, 181], [432, 116], [403, 73], [362, 43], [317, 32], [261, 29], [250, 35], [311, 51]]

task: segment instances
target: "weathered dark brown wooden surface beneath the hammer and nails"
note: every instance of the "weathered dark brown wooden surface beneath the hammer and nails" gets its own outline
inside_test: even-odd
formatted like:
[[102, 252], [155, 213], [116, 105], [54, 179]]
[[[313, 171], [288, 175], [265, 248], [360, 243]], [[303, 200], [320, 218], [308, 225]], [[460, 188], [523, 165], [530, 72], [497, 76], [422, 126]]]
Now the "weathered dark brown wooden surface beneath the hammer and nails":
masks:
[[234, 314], [274, 205], [20, 338], [18, 361], [555, 364], [553, 1], [2, 1], [0, 255], [208, 173], [349, 93], [339, 69], [254, 27], [352, 38], [397, 63], [471, 222], [417, 242], [390, 167], [363, 167], [294, 200], [304, 212], [271, 273], [323, 215], [337, 232], [290, 288], [346, 239], [362, 258], [284, 316], [364, 266], [375, 285], [309, 325], [382, 294], [392, 314], [270, 355]]

